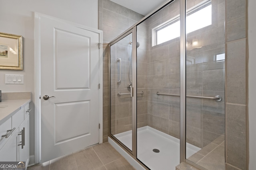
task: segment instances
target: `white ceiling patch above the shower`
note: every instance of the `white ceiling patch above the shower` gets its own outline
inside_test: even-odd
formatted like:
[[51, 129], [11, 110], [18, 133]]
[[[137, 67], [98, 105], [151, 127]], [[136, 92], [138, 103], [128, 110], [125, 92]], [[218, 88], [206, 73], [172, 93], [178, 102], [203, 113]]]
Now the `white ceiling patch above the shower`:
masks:
[[146, 16], [166, 0], [111, 0], [116, 4], [122, 5], [130, 10]]

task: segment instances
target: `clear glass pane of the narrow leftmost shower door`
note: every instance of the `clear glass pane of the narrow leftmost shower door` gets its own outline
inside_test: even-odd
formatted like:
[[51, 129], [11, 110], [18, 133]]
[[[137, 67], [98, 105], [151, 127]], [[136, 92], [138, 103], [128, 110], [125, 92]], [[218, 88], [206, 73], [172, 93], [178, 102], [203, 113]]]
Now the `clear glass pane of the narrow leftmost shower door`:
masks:
[[110, 44], [110, 135], [132, 152], [132, 32]]

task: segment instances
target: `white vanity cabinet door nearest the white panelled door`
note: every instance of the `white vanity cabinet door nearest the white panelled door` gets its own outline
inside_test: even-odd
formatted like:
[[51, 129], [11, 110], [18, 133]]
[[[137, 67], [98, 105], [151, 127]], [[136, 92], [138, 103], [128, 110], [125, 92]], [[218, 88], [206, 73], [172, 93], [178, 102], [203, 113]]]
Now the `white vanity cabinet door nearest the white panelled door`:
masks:
[[[19, 141], [23, 142], [23, 149], [22, 146], [18, 146], [19, 148], [19, 161], [26, 162], [26, 167], [28, 167], [29, 162], [29, 116], [26, 117], [24, 122], [19, 127], [20, 133], [21, 130], [24, 130], [24, 138], [22, 139], [22, 135], [19, 135]], [[20, 143], [21, 144], [21, 143]]]

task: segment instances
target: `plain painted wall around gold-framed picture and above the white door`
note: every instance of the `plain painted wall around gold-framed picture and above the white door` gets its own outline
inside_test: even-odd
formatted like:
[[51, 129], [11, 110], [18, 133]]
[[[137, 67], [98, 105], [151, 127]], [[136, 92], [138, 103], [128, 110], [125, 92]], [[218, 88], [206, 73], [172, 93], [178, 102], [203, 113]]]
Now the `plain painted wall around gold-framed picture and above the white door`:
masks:
[[[0, 70], [2, 92], [32, 92], [30, 155], [34, 155], [34, 12], [98, 29], [98, 0], [1, 0], [0, 32], [23, 36], [22, 71]], [[24, 74], [24, 84], [4, 84], [4, 74]]]

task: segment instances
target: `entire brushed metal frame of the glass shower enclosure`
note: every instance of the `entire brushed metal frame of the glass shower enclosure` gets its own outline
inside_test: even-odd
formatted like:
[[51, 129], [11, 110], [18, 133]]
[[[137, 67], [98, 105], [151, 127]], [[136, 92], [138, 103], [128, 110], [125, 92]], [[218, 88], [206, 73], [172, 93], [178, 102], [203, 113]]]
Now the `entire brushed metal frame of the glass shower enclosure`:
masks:
[[[170, 3], [174, 2], [175, 0], [168, 0], [164, 2], [161, 6], [159, 6], [154, 11], [150, 12], [147, 16], [142, 18], [140, 21], [132, 25], [129, 29], [124, 31], [121, 35], [119, 35], [117, 38], [112, 40], [109, 44], [109, 98], [111, 98], [111, 86], [110, 86], [110, 69], [111, 69], [111, 58], [110, 58], [110, 46], [119, 41], [120, 39], [124, 38], [126, 35], [132, 34], [132, 41], [137, 42], [137, 25], [142, 23], [143, 21], [150, 18], [152, 15], [160, 11], [165, 6], [169, 5]], [[136, 46], [137, 43], [132, 43], [132, 49], [137, 49]], [[132, 81], [133, 88], [134, 88], [134, 94], [137, 94], [137, 50], [132, 50]], [[111, 101], [109, 101], [110, 107], [109, 107], [109, 133], [108, 136], [116, 141], [116, 143], [124, 148], [124, 150], [130, 154], [136, 160], [139, 164], [141, 164], [144, 168], [146, 165], [144, 165], [140, 160], [137, 158], [137, 95], [134, 95], [132, 98], [132, 151], [128, 149], [124, 144], [122, 144], [120, 141], [118, 141], [113, 135], [111, 135]], [[226, 148], [225, 148], [226, 150]], [[195, 164], [194, 162], [191, 162], [190, 160], [186, 159], [186, 0], [180, 0], [180, 163], [186, 162], [200, 170], [206, 170], [202, 166], [199, 166], [198, 164]], [[225, 160], [226, 162], [226, 160]], [[178, 165], [177, 165], [178, 166]]]

